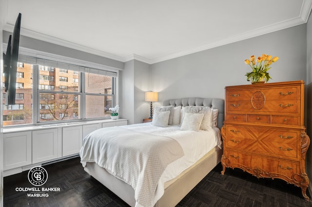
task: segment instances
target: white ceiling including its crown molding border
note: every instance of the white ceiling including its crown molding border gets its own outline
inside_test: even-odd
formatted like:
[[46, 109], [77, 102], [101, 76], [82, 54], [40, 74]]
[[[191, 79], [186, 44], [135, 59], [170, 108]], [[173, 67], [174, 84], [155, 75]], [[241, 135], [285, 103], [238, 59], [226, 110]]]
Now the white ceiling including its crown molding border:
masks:
[[4, 30], [119, 61], [183, 56], [306, 23], [312, 0], [4, 0]]

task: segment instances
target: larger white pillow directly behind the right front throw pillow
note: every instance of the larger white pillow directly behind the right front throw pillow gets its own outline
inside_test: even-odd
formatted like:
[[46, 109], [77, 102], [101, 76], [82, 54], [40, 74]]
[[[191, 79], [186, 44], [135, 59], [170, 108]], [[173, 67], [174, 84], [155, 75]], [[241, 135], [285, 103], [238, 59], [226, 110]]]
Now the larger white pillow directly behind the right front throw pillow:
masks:
[[[184, 113], [203, 113], [204, 117], [200, 125], [200, 130], [208, 131], [213, 127], [213, 110], [208, 106], [186, 106]], [[184, 117], [182, 115], [182, 124]]]

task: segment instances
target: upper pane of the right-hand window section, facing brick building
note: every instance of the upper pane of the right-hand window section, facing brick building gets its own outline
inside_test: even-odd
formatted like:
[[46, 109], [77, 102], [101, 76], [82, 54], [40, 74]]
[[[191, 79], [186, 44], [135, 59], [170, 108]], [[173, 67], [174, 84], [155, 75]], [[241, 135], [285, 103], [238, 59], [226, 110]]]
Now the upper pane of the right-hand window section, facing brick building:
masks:
[[98, 75], [85, 73], [86, 93], [90, 94], [112, 94], [112, 77], [106, 75]]

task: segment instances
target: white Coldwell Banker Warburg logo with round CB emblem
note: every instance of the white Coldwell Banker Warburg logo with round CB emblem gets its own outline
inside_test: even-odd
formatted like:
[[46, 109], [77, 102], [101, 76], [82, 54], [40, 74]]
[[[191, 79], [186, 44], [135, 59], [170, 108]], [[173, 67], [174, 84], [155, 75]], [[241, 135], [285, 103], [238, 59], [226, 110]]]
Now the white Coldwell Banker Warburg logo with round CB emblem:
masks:
[[40, 167], [34, 167], [28, 172], [29, 182], [35, 186], [32, 188], [15, 188], [16, 191], [27, 192], [27, 197], [49, 197], [49, 191], [60, 191], [60, 188], [39, 188], [48, 180], [48, 172]]

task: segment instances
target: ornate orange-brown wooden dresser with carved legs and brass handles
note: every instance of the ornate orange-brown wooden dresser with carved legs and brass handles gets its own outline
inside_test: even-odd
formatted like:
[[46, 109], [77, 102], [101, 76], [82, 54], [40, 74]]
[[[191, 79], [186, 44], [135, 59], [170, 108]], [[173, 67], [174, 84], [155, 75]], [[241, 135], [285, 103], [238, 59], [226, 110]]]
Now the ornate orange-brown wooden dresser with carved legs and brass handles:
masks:
[[309, 200], [304, 82], [228, 86], [225, 103], [221, 174], [227, 167], [257, 178], [280, 178], [300, 187]]

